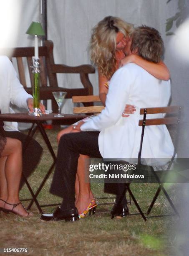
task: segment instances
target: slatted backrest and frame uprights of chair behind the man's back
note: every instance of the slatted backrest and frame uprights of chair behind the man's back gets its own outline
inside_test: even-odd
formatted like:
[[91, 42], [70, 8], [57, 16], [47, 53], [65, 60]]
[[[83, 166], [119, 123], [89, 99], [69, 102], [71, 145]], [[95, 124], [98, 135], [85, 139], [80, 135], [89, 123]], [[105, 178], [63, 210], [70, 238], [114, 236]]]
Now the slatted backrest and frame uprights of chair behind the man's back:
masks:
[[[171, 116], [168, 116], [168, 117], [165, 116], [164, 118], [150, 118], [150, 119], [146, 118], [146, 115], [148, 114], [161, 114], [161, 113], [169, 114]], [[142, 151], [145, 126], [176, 124], [177, 128], [176, 128], [176, 135], [175, 135], [175, 141], [174, 141], [174, 153], [171, 159], [171, 161], [173, 161], [176, 154], [176, 147], [178, 143], [181, 107], [170, 106], [170, 107], [159, 107], [159, 108], [141, 108], [140, 114], [143, 115], [143, 119], [139, 120], [139, 126], [142, 126], [142, 132], [141, 132], [141, 144], [140, 144], [138, 159], [139, 160], [141, 159], [141, 151]]]

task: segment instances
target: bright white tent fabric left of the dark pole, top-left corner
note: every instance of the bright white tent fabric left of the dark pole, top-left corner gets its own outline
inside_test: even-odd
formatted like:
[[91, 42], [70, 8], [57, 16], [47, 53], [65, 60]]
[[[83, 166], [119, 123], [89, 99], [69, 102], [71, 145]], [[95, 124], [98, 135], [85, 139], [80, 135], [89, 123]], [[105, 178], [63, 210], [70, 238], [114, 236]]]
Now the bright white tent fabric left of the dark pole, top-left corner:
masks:
[[[2, 47], [32, 46], [33, 38], [25, 34], [33, 20], [40, 20], [40, 0], [6, 0], [0, 2]], [[7, 31], [5, 33], [4, 31]], [[5, 38], [3, 43], [2, 38]]]

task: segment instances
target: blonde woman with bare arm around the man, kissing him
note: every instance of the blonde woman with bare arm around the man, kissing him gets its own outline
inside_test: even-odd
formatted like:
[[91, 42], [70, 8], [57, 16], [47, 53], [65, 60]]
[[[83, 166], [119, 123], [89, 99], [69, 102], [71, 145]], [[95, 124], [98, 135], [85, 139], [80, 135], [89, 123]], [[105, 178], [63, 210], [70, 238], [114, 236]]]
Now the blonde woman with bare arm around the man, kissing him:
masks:
[[[103, 105], [105, 105], [106, 95], [108, 93], [108, 81], [111, 79], [113, 73], [123, 64], [134, 62], [158, 79], [168, 80], [170, 77], [169, 70], [162, 61], [155, 64], [141, 59], [134, 54], [125, 55], [125, 48], [127, 53], [129, 53], [130, 34], [133, 30], [133, 25], [113, 16], [105, 17], [92, 30], [90, 56], [98, 68], [99, 97]], [[123, 116], [127, 117], [128, 114], [133, 114], [134, 111], [134, 106], [126, 105]], [[75, 124], [58, 133], [58, 142], [61, 136], [70, 132], [78, 132]], [[88, 156], [80, 155], [78, 159], [75, 205], [80, 217], [85, 217], [88, 210], [96, 207], [90, 184], [85, 182], [84, 164], [87, 158]], [[122, 205], [123, 209], [120, 210], [120, 214], [118, 215], [125, 216], [128, 212], [126, 198], [123, 198]]]

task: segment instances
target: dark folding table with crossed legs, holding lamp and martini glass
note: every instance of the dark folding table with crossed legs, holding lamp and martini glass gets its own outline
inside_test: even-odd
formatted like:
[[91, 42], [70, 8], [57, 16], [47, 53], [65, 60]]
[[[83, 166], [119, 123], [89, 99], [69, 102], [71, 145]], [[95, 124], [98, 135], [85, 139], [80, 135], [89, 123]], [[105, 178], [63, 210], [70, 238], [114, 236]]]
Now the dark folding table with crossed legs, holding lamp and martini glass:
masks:
[[[27, 148], [27, 146], [30, 143], [30, 139], [34, 136], [35, 132], [37, 130], [40, 131], [47, 147], [48, 150], [50, 151], [51, 156], [53, 157], [53, 163], [50, 166], [48, 172], [46, 173], [43, 181], [41, 182], [37, 192], [33, 192], [32, 188], [30, 187], [30, 184], [28, 183], [28, 180], [26, 179], [26, 177], [23, 174], [23, 177], [25, 179], [25, 183], [28, 187], [28, 189], [30, 190], [30, 193], [33, 197], [33, 199], [31, 200], [29, 206], [27, 209], [30, 209], [30, 207], [33, 205], [33, 202], [35, 202], [35, 204], [38, 207], [38, 210], [40, 213], [43, 213], [41, 207], [42, 206], [49, 206], [49, 205], [39, 205], [38, 200], [37, 200], [37, 196], [40, 193], [41, 189], [43, 188], [45, 182], [47, 181], [49, 175], [51, 174], [51, 172], [53, 171], [53, 167], [55, 166], [55, 162], [56, 162], [56, 155], [55, 152], [51, 146], [51, 143], [48, 139], [47, 133], [45, 132], [45, 129], [43, 127], [43, 122], [45, 121], [49, 121], [49, 120], [56, 120], [58, 121], [58, 123], [60, 123], [61, 125], [67, 125], [68, 123], [71, 122], [71, 120], [73, 120], [73, 123], [76, 120], [81, 120], [83, 118], [86, 117], [86, 115], [71, 115], [71, 114], [63, 114], [63, 117], [54, 117], [54, 113], [52, 114], [47, 114], [47, 115], [41, 115], [40, 117], [36, 117], [36, 116], [32, 116], [32, 115], [28, 115], [28, 113], [11, 113], [11, 114], [0, 114], [0, 120], [1, 121], [9, 121], [9, 122], [22, 122], [22, 123], [32, 123], [32, 127], [29, 129], [28, 131], [28, 138], [26, 139], [26, 143], [24, 145], [24, 151]], [[24, 153], [24, 152], [23, 152]]]

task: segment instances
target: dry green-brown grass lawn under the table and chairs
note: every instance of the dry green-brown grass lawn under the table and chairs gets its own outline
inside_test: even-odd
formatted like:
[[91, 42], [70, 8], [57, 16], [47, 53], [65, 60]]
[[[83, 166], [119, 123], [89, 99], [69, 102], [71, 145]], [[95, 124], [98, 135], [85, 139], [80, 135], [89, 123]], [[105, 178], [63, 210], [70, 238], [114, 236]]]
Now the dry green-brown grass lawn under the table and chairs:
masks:
[[[47, 131], [55, 151], [57, 130]], [[29, 182], [36, 190], [43, 179], [46, 170], [52, 162], [40, 134], [37, 140], [44, 148], [42, 160], [30, 177]], [[60, 202], [60, 198], [50, 195], [48, 190], [52, 176], [45, 184], [38, 196], [41, 204]], [[131, 184], [131, 189], [136, 196], [142, 210], [147, 210], [156, 191], [157, 184]], [[103, 184], [92, 184], [96, 197], [103, 197]], [[170, 187], [171, 192], [176, 190], [176, 184]], [[172, 193], [174, 194], [174, 193]], [[30, 197], [28, 189], [24, 186], [20, 198]], [[176, 202], [176, 197], [171, 196]], [[101, 200], [102, 202], [102, 200]], [[28, 202], [25, 202], [27, 206]], [[28, 248], [28, 255], [171, 255], [172, 241], [170, 232], [176, 216], [164, 218], [148, 218], [146, 222], [140, 215], [131, 215], [126, 218], [111, 220], [110, 210], [112, 205], [100, 205], [96, 214], [86, 217], [76, 223], [44, 222], [35, 205], [32, 206], [34, 216], [20, 218], [16, 215], [0, 213], [0, 248]], [[54, 207], [45, 207], [45, 212], [52, 212]], [[129, 205], [131, 213], [137, 213], [132, 203]], [[159, 196], [151, 215], [171, 212], [169, 203], [163, 194]], [[167, 232], [169, 231], [169, 232]], [[0, 254], [5, 255], [5, 254]], [[12, 255], [6, 253], [6, 255]]]

